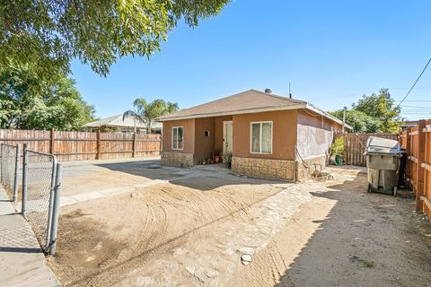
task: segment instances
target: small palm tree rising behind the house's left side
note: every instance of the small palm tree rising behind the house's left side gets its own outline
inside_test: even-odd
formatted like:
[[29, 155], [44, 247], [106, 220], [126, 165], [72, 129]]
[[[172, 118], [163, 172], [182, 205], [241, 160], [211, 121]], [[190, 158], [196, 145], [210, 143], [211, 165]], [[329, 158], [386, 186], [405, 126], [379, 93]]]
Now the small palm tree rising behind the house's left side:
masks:
[[166, 102], [160, 99], [147, 102], [144, 98], [137, 98], [133, 102], [133, 106], [135, 109], [126, 111], [123, 114], [123, 119], [125, 117], [138, 118], [145, 124], [147, 134], [151, 134], [154, 118], [171, 114], [172, 112], [175, 112], [179, 109], [178, 103], [173, 103], [171, 101]]

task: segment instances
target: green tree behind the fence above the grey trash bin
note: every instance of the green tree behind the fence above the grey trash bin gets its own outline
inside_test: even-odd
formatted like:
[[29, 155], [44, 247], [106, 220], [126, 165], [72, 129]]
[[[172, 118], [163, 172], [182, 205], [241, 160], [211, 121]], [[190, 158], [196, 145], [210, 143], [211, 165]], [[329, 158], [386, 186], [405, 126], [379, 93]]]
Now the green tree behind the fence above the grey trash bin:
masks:
[[[352, 109], [346, 112], [346, 123], [358, 133], [398, 133], [400, 111], [388, 89], [382, 89], [378, 94], [363, 95], [353, 103]], [[342, 119], [343, 109], [330, 114]]]

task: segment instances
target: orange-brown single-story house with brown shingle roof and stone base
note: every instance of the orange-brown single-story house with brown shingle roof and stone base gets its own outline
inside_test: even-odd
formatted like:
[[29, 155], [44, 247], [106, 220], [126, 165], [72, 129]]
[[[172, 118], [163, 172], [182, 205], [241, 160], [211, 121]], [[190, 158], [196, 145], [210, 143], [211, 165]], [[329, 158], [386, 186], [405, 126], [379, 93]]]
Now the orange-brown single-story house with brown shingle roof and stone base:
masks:
[[157, 120], [163, 122], [165, 165], [191, 167], [214, 152], [232, 152], [233, 172], [288, 180], [306, 178], [314, 164], [324, 166], [343, 126], [306, 101], [256, 90]]

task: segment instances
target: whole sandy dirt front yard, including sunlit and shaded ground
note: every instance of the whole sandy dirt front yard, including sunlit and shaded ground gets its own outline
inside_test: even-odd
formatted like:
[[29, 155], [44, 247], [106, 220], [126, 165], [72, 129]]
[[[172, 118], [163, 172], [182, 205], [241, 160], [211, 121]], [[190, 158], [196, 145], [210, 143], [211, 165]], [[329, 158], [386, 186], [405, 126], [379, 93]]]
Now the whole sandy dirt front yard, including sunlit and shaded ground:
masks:
[[[154, 162], [65, 168], [65, 286], [427, 286], [431, 229], [360, 170], [287, 184]], [[94, 193], [101, 195], [94, 197]], [[79, 196], [79, 197], [74, 197]], [[70, 199], [69, 198], [69, 199]], [[63, 200], [63, 198], [62, 198]], [[243, 254], [251, 255], [242, 265]]]

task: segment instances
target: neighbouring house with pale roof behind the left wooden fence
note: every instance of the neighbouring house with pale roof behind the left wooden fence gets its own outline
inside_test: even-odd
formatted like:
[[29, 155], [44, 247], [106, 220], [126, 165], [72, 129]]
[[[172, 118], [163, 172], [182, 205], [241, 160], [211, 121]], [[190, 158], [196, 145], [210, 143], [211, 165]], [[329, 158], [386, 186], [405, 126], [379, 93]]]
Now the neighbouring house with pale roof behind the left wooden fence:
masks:
[[[121, 133], [137, 133], [146, 134], [146, 124], [139, 118], [133, 116], [127, 116], [123, 118], [123, 114], [112, 117], [104, 117], [87, 123], [84, 125], [88, 131], [94, 132], [99, 129], [116, 129]], [[162, 123], [154, 122], [151, 126], [151, 134], [161, 134]]]

